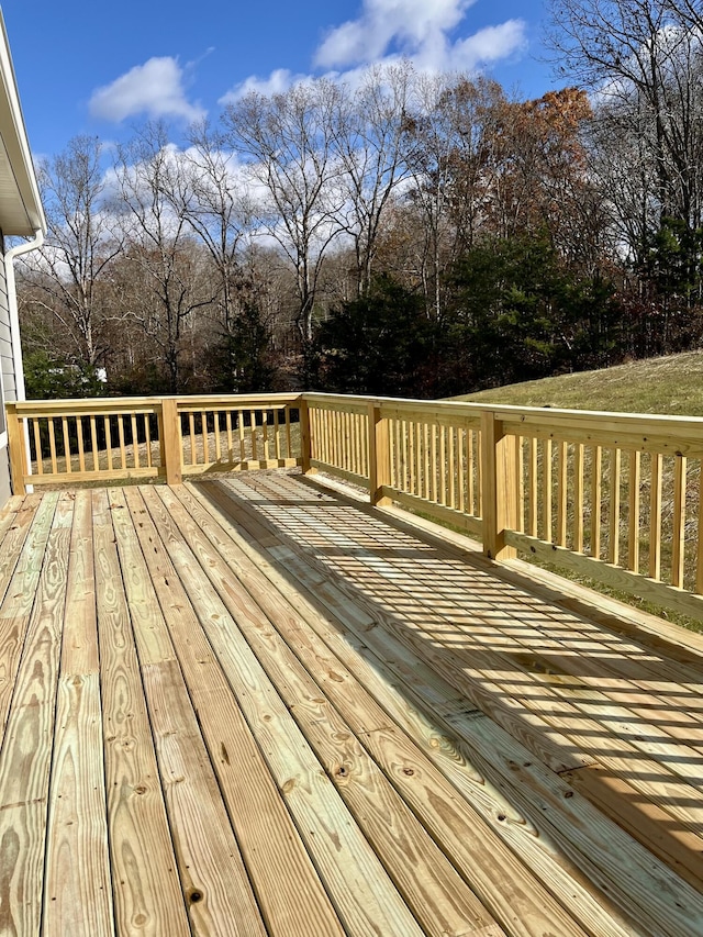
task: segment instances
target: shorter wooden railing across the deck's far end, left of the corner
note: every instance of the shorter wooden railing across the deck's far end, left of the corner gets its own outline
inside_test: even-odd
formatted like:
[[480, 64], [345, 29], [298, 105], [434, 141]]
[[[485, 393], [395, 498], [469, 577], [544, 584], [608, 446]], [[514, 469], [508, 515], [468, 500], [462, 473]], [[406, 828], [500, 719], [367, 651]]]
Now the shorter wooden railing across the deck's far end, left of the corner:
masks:
[[299, 394], [7, 405], [13, 489], [302, 464]]

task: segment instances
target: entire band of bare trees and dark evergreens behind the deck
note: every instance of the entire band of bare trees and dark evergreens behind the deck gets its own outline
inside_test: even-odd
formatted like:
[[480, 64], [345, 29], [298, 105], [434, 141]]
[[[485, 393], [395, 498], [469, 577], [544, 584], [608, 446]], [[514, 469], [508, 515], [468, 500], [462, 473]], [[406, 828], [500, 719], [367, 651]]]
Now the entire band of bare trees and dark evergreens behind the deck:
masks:
[[436, 397], [696, 347], [698, 4], [560, 0], [553, 46], [580, 88], [399, 64], [180, 146], [70, 141], [20, 269], [29, 392]]

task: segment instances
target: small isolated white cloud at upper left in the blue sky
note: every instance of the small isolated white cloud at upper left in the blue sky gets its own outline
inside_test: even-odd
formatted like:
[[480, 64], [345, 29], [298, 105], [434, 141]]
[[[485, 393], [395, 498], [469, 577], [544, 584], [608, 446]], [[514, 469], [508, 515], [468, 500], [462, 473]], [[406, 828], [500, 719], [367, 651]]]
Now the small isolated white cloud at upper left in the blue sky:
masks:
[[172, 56], [149, 58], [111, 85], [98, 88], [89, 108], [93, 116], [114, 123], [144, 113], [149, 118], [176, 116], [188, 121], [205, 113], [186, 98], [183, 69]]

